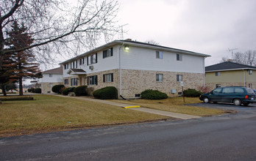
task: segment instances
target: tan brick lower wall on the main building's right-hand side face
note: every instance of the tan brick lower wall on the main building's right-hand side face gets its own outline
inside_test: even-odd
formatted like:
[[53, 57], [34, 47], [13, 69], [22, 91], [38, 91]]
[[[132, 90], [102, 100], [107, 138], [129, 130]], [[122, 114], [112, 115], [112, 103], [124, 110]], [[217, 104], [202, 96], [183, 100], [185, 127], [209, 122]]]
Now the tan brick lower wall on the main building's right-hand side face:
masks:
[[[163, 82], [156, 81], [156, 75], [163, 74]], [[182, 92], [177, 75], [182, 75], [184, 89], [198, 89], [203, 86], [203, 74], [189, 72], [163, 72], [148, 70], [122, 70], [122, 96], [134, 98], [135, 94], [141, 94], [146, 89], [156, 89], [168, 94], [168, 97], [177, 97]], [[171, 89], [176, 93], [171, 94]]]

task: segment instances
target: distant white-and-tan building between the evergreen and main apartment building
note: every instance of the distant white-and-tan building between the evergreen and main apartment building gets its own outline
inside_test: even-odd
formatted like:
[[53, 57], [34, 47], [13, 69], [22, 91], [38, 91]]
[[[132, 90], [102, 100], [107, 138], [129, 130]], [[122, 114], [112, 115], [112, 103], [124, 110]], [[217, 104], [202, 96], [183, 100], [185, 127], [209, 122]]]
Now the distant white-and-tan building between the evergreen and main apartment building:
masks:
[[34, 88], [42, 89], [42, 94], [53, 93], [51, 91], [52, 86], [63, 84], [63, 67], [46, 70], [42, 74], [43, 78], [38, 79], [38, 81], [31, 81]]

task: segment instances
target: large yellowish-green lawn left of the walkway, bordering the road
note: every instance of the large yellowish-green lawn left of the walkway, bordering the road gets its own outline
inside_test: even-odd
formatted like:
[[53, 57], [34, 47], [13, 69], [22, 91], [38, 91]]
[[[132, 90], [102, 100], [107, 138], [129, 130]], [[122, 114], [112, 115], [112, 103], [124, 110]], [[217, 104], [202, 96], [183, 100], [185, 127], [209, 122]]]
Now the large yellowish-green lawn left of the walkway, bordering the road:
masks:
[[52, 95], [0, 104], [0, 136], [170, 119], [113, 105]]

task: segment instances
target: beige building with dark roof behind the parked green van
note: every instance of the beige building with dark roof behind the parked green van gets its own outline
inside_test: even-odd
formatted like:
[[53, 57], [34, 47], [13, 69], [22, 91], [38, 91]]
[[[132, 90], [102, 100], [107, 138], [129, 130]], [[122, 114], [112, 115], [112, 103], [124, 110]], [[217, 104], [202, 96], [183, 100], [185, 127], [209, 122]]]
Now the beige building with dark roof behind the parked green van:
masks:
[[205, 67], [205, 85], [212, 89], [219, 86], [246, 86], [256, 89], [256, 67], [231, 61]]

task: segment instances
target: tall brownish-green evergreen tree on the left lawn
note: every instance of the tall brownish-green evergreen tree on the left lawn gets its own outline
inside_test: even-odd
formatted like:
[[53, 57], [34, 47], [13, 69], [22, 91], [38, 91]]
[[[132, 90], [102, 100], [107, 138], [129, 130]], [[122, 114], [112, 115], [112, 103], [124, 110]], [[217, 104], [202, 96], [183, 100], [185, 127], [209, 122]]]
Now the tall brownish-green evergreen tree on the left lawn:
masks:
[[[11, 31], [7, 31], [7, 35], [10, 37], [7, 40], [6, 45], [10, 49], [26, 48], [33, 42], [32, 37], [26, 33], [26, 27], [24, 24], [18, 25], [17, 21], [14, 21]], [[23, 95], [23, 79], [27, 78], [40, 78], [39, 64], [35, 63], [35, 58], [31, 50], [23, 50], [21, 52], [13, 53], [15, 74], [10, 76], [11, 78], [17, 78], [19, 83], [19, 95]]]

